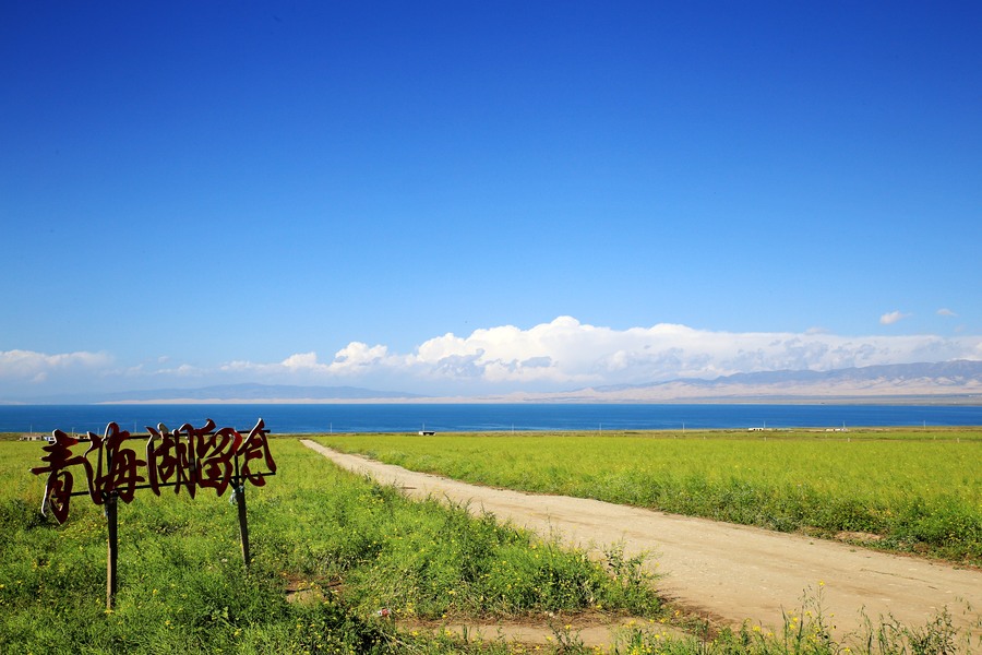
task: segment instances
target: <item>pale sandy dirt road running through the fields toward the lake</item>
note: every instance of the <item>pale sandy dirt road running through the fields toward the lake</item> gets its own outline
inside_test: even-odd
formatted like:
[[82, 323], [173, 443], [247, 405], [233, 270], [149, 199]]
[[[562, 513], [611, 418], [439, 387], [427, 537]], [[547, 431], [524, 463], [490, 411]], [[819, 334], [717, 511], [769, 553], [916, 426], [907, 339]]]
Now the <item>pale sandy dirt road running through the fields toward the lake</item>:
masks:
[[918, 627], [945, 607], [956, 626], [975, 624], [978, 633], [979, 571], [597, 500], [479, 487], [302, 442], [344, 468], [402, 487], [414, 497], [469, 503], [476, 511], [483, 508], [543, 535], [554, 532], [580, 547], [623, 541], [627, 555], [651, 556], [649, 563], [663, 575], [658, 582], [663, 595], [718, 621], [750, 619], [780, 627], [782, 608], [799, 608], [803, 592], [821, 585], [823, 610], [838, 633], [858, 629], [863, 609], [874, 621], [891, 615]]

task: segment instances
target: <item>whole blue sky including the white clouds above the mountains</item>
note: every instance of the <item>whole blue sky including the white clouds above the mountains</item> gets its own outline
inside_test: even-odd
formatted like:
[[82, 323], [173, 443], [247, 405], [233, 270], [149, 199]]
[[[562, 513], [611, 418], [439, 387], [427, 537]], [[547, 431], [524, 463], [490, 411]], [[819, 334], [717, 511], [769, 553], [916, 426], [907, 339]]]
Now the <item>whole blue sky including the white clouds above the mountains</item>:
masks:
[[982, 359], [977, 2], [9, 2], [0, 401]]

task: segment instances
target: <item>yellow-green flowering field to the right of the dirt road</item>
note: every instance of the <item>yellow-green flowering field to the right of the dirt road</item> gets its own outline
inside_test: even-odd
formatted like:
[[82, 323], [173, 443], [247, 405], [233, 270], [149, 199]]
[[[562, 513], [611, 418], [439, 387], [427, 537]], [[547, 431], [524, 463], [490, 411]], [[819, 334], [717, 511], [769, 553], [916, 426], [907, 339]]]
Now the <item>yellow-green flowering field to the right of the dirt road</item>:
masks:
[[982, 430], [318, 436], [471, 483], [982, 564]]

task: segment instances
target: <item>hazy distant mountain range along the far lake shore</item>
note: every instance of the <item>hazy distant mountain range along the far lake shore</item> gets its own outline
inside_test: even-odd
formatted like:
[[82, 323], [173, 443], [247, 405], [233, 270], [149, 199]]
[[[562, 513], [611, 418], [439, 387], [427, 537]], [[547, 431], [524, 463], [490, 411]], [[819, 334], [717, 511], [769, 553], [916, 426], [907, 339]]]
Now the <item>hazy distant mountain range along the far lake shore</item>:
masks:
[[982, 361], [895, 364], [831, 371], [736, 373], [712, 380], [678, 379], [596, 386], [560, 393], [516, 392], [477, 397], [430, 397], [358, 386], [226, 384], [35, 398], [39, 403], [776, 403], [956, 402], [982, 404]]

